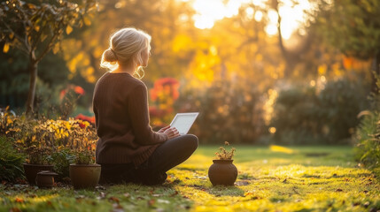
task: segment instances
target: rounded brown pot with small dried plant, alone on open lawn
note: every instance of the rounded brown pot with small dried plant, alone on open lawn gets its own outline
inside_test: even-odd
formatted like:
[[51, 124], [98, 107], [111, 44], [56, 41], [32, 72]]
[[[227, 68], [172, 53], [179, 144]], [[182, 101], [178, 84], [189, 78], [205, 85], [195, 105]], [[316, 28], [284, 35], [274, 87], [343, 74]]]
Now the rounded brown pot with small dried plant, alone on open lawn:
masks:
[[[225, 141], [224, 144], [229, 146], [228, 141]], [[213, 164], [208, 169], [208, 178], [210, 178], [213, 186], [234, 186], [237, 180], [237, 167], [232, 163], [235, 151], [235, 148], [228, 151], [226, 148], [221, 147], [219, 152], [215, 153], [216, 159], [213, 160]]]

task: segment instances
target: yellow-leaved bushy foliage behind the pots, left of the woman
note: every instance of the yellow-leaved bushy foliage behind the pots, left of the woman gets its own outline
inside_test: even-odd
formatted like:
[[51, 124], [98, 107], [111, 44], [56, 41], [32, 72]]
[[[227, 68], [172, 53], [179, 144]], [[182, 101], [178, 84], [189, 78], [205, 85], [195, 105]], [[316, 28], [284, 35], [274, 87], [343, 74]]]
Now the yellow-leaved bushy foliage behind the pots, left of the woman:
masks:
[[61, 177], [70, 163], [94, 163], [97, 133], [87, 121], [31, 119], [5, 112], [0, 119], [3, 135], [14, 138], [27, 154], [28, 163], [51, 163]]

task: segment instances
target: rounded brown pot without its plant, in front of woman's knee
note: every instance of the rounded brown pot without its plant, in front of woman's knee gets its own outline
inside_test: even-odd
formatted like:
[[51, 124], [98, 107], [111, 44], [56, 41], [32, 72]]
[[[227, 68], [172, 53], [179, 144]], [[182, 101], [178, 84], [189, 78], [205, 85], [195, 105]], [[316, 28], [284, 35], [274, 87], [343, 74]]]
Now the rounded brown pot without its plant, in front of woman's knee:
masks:
[[232, 163], [234, 160], [213, 160], [208, 169], [208, 178], [213, 186], [234, 186], [237, 180], [237, 167]]

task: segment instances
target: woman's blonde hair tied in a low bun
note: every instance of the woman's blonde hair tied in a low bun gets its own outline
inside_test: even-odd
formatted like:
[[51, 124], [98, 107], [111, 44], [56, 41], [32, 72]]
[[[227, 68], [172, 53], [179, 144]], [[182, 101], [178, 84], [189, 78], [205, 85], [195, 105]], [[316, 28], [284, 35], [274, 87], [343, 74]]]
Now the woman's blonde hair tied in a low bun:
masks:
[[133, 64], [136, 67], [135, 74], [143, 78], [138, 72], [143, 71], [143, 58], [141, 52], [150, 48], [151, 35], [136, 28], [122, 28], [112, 34], [110, 47], [103, 52], [100, 66], [110, 71], [117, 69], [120, 64]]

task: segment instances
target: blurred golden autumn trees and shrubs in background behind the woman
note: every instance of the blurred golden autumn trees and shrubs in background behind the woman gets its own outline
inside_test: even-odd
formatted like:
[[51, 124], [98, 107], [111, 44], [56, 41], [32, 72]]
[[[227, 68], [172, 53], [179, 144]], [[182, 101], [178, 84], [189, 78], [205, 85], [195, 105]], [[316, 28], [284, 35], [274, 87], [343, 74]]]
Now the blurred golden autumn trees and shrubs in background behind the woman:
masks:
[[[121, 27], [152, 36], [143, 78], [152, 125], [199, 111], [190, 133], [202, 143], [349, 143], [368, 108], [376, 0], [98, 0], [96, 8], [41, 60], [35, 112], [91, 117], [100, 57]], [[22, 112], [27, 57], [8, 43], [2, 35], [0, 107]]]

